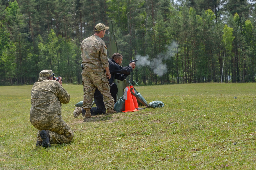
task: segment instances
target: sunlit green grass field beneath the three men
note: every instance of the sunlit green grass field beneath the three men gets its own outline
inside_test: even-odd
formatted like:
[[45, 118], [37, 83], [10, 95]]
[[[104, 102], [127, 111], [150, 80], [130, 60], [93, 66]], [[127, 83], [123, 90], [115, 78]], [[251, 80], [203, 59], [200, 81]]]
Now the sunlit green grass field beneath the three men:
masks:
[[255, 85], [135, 86], [165, 106], [84, 121], [82, 86], [64, 84], [74, 140], [47, 149], [29, 121], [32, 85], [0, 87], [0, 169], [256, 169]]

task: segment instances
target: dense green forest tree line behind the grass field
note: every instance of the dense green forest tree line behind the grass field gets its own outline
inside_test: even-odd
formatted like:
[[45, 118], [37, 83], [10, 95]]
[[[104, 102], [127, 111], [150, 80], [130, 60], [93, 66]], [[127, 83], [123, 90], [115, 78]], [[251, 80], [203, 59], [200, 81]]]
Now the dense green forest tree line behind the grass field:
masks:
[[[53, 70], [81, 84], [82, 40], [113, 30], [139, 84], [255, 82], [256, 9], [246, 0], [0, 0], [0, 85]], [[102, 38], [107, 47], [109, 32]]]

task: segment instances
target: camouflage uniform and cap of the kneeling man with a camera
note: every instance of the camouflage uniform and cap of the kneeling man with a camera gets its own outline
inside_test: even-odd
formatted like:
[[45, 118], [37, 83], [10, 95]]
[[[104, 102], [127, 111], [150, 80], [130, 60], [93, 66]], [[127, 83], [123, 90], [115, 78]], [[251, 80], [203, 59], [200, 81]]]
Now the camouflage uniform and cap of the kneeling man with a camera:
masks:
[[69, 143], [74, 133], [61, 117], [61, 103], [70, 100], [68, 92], [56, 80], [48, 80], [51, 70], [43, 70], [31, 90], [30, 122], [38, 129], [37, 141], [42, 141], [41, 130], [49, 130], [50, 143]]

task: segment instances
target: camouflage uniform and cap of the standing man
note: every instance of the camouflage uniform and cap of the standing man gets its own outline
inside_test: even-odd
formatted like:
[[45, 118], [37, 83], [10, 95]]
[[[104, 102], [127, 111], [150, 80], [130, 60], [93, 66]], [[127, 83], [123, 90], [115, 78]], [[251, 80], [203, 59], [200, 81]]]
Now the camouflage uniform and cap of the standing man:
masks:
[[[96, 28], [99, 25], [99, 30]], [[103, 29], [103, 25], [97, 24], [95, 31]], [[108, 29], [108, 27], [105, 27]], [[84, 100], [83, 108], [91, 108], [96, 88], [103, 94], [105, 108], [114, 109], [114, 99], [110, 94], [110, 85], [106, 77], [105, 67], [109, 67], [107, 47], [105, 42], [97, 35], [84, 39], [81, 43], [82, 65], [81, 73], [83, 79]]]

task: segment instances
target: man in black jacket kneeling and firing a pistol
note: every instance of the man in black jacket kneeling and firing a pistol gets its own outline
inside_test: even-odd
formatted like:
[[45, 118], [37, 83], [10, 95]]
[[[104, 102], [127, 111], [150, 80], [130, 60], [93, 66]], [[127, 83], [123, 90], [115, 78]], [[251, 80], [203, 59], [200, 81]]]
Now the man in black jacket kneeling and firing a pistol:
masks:
[[[132, 62], [129, 64], [129, 66], [122, 67], [120, 66], [122, 64], [123, 56], [119, 53], [114, 53], [111, 58], [108, 59], [109, 62], [109, 71], [110, 71], [110, 93], [111, 96], [114, 98], [116, 103], [116, 94], [118, 92], [117, 85], [114, 83], [114, 79], [123, 81], [126, 79], [126, 77], [132, 72], [132, 70], [135, 68], [135, 62]], [[91, 115], [97, 115], [97, 114], [105, 114], [106, 109], [103, 102], [103, 95], [100, 93], [98, 89], [95, 90], [94, 93], [94, 102], [96, 104], [96, 107], [91, 108]], [[76, 107], [74, 110], [74, 117], [77, 117], [80, 113], [85, 113], [85, 111], [82, 108]]]

